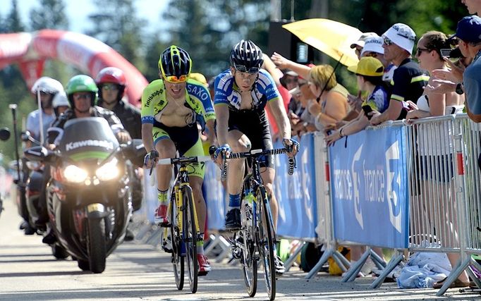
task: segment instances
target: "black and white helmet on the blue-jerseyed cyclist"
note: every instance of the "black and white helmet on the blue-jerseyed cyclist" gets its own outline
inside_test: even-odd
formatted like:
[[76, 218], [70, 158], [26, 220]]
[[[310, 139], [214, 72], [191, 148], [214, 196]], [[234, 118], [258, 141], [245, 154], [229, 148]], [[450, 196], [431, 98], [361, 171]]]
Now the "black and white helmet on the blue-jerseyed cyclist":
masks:
[[241, 40], [231, 50], [231, 66], [241, 72], [255, 73], [264, 63], [262, 51], [250, 39]]

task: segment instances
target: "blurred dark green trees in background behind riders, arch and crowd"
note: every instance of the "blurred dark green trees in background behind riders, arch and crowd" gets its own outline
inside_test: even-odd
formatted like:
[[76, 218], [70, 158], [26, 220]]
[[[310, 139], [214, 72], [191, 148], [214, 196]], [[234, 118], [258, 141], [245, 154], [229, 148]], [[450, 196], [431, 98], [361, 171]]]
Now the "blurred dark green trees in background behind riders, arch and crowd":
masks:
[[[8, 0], [5, 0], [8, 1]], [[24, 23], [18, 13], [18, 0], [11, 0], [10, 11], [1, 11], [0, 33], [31, 32], [44, 28], [68, 30], [65, 13], [66, 0], [38, 0]], [[95, 0], [98, 10], [89, 18], [91, 29], [84, 32], [102, 40], [133, 63], [151, 81], [158, 77], [159, 54], [169, 44], [178, 44], [193, 58], [193, 71], [217, 75], [228, 66], [229, 51], [240, 39], [252, 39], [267, 51], [271, 1], [269, 0], [169, 0], [159, 18], [169, 30], [147, 33], [146, 20], [135, 11], [135, 0]], [[293, 4], [293, 11], [291, 7]], [[448, 34], [456, 30], [456, 23], [468, 15], [459, 0], [298, 0], [281, 1], [281, 18], [330, 18], [363, 32], [381, 35], [394, 23], [406, 23], [418, 37], [428, 30]], [[315, 62], [334, 64], [317, 51]], [[47, 61], [44, 75], [59, 79], [63, 84], [79, 71], [71, 66]], [[346, 68], [336, 71], [339, 82], [355, 91], [355, 78]], [[18, 104], [20, 125], [28, 112], [35, 109], [35, 100], [28, 92], [16, 65], [0, 70], [0, 127], [11, 128], [8, 104]], [[13, 156], [13, 139], [0, 142], [0, 151], [8, 163]]]

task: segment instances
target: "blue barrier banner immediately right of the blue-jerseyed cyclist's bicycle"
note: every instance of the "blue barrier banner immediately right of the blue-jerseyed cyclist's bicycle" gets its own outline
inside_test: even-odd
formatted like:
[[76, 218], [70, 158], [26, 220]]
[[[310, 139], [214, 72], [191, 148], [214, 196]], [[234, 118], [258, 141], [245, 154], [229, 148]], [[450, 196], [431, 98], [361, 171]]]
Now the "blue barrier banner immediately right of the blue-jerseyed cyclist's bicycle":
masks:
[[[279, 204], [277, 235], [288, 238], [314, 239], [317, 225], [314, 136], [303, 135], [299, 141], [300, 151], [296, 155], [297, 168], [288, 176], [286, 155], [275, 156], [276, 178], [274, 193]], [[276, 142], [274, 148], [281, 148]]]

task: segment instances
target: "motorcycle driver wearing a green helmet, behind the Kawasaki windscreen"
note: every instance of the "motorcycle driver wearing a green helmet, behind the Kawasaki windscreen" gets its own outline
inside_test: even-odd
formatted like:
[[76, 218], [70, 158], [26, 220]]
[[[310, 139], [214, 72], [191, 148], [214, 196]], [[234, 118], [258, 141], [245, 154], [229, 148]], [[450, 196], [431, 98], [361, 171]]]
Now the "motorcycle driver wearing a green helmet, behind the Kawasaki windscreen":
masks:
[[[118, 142], [126, 143], [131, 140], [128, 132], [123, 128], [121, 121], [114, 112], [100, 106], [95, 106], [98, 92], [95, 81], [88, 75], [75, 75], [66, 85], [66, 94], [71, 108], [56, 118], [47, 132], [47, 144], [54, 149], [63, 135], [63, 126], [73, 118], [102, 117], [117, 137]], [[47, 234], [42, 242], [52, 244], [56, 240], [53, 231]]]

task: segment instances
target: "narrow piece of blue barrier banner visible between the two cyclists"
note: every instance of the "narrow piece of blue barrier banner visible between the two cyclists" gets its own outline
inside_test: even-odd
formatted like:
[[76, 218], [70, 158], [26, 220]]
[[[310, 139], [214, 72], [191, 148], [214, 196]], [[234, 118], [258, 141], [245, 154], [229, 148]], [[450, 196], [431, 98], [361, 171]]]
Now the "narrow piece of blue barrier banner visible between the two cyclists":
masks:
[[226, 216], [226, 192], [221, 185], [221, 170], [212, 161], [205, 162], [204, 197], [207, 225], [210, 230], [223, 230]]

